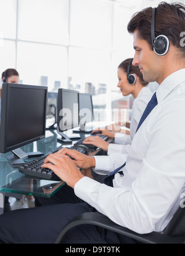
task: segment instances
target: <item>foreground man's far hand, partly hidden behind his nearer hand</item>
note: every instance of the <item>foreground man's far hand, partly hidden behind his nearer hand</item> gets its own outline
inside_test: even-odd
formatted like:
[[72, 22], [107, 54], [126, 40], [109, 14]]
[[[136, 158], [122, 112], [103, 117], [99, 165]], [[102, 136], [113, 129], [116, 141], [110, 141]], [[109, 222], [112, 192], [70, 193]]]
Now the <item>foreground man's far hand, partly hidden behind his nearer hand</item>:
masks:
[[86, 156], [74, 149], [62, 148], [56, 154], [68, 155], [72, 158], [73, 162], [80, 169], [89, 169], [90, 167], [95, 167], [96, 161], [94, 157]]

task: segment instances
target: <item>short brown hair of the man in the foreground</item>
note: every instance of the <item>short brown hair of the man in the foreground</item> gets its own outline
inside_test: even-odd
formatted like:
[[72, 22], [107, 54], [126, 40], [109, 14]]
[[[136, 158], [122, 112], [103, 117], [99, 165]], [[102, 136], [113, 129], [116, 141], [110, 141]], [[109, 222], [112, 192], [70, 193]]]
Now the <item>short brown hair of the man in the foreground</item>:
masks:
[[[130, 33], [138, 30], [138, 37], [146, 40], [153, 50], [151, 22], [152, 7], [148, 7], [133, 15], [127, 29]], [[165, 35], [170, 43], [181, 51], [181, 55], [185, 56], [184, 45], [181, 46], [180, 43], [182, 32], [185, 32], [185, 6], [178, 2], [160, 2], [155, 11], [155, 37]]]

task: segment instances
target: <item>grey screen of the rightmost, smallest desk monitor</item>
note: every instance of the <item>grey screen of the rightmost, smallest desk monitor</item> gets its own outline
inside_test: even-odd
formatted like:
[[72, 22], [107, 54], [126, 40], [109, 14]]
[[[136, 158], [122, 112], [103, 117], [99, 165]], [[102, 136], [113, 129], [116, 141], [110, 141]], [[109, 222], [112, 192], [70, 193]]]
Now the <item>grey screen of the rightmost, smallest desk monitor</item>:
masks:
[[93, 106], [91, 94], [79, 94], [79, 123], [84, 126], [93, 121]]

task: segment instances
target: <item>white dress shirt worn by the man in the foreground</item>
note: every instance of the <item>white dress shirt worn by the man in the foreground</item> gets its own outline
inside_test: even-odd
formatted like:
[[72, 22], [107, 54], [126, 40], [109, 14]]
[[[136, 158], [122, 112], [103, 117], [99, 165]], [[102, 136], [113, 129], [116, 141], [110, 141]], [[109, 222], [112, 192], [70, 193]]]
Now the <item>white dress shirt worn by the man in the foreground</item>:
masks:
[[162, 232], [185, 192], [185, 69], [157, 89], [158, 105], [134, 135], [113, 187], [83, 177], [78, 197], [112, 221], [138, 233]]

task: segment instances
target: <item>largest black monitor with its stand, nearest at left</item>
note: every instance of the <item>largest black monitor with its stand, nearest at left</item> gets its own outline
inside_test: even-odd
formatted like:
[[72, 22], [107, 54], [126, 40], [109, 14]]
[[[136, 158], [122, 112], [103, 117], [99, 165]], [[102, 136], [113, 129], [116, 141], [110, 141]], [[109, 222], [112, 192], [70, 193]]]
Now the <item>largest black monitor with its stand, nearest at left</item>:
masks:
[[42, 154], [25, 153], [20, 147], [45, 137], [46, 103], [46, 86], [2, 84], [0, 152], [13, 152], [7, 156], [13, 167]]

